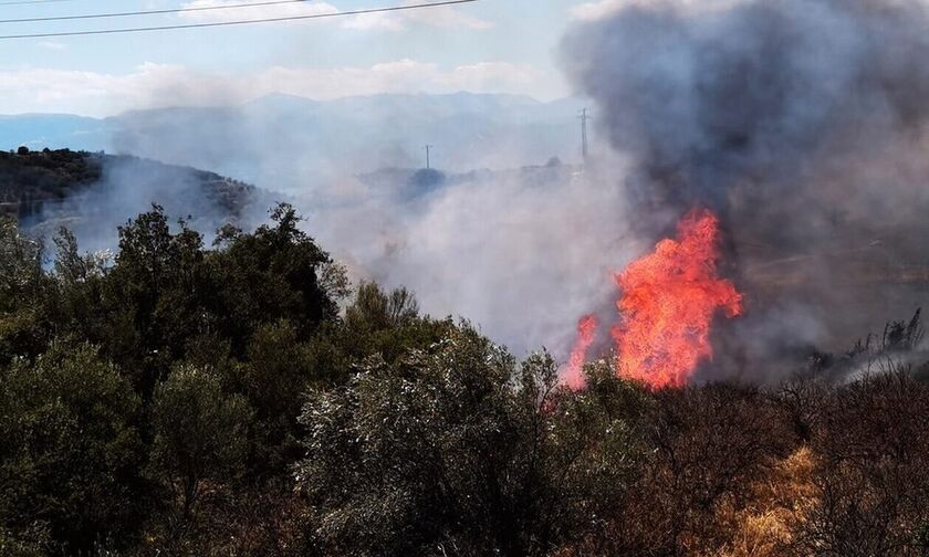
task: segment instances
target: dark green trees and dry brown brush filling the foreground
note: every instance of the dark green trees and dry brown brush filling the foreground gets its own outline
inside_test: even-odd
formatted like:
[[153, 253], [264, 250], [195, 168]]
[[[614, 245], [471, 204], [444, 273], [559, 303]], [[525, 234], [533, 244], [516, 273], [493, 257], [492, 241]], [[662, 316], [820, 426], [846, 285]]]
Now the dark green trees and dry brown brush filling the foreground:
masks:
[[112, 261], [0, 225], [0, 555], [929, 551], [929, 388], [650, 391], [362, 284], [288, 206]]

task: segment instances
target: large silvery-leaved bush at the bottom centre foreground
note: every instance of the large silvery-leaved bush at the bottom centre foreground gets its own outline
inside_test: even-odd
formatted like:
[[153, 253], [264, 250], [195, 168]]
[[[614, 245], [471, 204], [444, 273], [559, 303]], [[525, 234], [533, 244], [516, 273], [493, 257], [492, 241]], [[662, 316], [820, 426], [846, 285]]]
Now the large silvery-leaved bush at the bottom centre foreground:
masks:
[[[624, 491], [636, 459], [620, 417], [599, 413], [594, 397], [559, 400], [571, 395], [556, 369], [544, 355], [516, 366], [462, 326], [311, 393], [296, 480], [324, 550], [531, 556], [568, 539]], [[575, 411], [596, 419], [578, 428]], [[598, 488], [597, 479], [615, 482]]]

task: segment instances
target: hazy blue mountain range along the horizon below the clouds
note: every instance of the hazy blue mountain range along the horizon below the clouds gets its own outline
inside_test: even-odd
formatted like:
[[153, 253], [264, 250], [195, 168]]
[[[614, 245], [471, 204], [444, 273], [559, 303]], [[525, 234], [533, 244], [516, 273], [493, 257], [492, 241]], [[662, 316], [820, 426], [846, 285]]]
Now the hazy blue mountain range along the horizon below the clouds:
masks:
[[[305, 192], [313, 182], [383, 167], [449, 171], [578, 157], [583, 102], [458, 93], [376, 95], [319, 102], [273, 95], [236, 107], [159, 108], [108, 118], [0, 116], [0, 148], [25, 145], [128, 153], [209, 168], [267, 189]], [[531, 139], [531, 140], [530, 140]]]

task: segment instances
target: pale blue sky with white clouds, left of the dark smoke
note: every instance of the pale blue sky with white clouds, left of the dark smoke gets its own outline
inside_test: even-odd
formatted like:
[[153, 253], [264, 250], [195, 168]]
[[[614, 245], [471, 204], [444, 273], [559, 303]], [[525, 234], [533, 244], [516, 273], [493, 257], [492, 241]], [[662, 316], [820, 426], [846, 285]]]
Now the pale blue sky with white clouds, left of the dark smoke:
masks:
[[[0, 19], [241, 4], [257, 0], [59, 0]], [[0, 23], [0, 34], [173, 25], [328, 13], [430, 0], [312, 0], [104, 20]], [[94, 36], [0, 40], [0, 114], [103, 117], [165, 106], [227, 106], [269, 94], [572, 92], [559, 69], [567, 25], [620, 0], [480, 0], [404, 12]]]

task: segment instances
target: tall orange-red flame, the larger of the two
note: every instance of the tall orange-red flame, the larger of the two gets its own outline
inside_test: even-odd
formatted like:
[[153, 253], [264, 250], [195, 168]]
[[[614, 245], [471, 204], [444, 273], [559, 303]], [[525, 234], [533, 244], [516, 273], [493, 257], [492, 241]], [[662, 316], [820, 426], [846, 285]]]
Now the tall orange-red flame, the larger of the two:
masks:
[[712, 357], [710, 323], [718, 308], [742, 312], [742, 295], [717, 275], [719, 221], [692, 210], [678, 223], [678, 238], [616, 273], [623, 320], [613, 328], [617, 369], [625, 377], [660, 388], [687, 383]]

